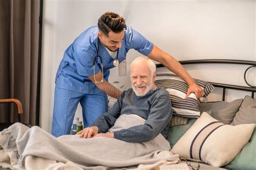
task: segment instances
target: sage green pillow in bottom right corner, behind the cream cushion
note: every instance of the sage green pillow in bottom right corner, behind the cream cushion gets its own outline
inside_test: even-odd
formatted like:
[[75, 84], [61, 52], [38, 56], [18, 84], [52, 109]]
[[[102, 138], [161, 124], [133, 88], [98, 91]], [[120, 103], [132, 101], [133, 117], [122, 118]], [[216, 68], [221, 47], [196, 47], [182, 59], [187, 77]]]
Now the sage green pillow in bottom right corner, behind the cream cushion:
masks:
[[254, 132], [250, 141], [242, 148], [242, 151], [234, 158], [234, 160], [225, 166], [228, 169], [256, 169], [256, 124], [254, 124]]

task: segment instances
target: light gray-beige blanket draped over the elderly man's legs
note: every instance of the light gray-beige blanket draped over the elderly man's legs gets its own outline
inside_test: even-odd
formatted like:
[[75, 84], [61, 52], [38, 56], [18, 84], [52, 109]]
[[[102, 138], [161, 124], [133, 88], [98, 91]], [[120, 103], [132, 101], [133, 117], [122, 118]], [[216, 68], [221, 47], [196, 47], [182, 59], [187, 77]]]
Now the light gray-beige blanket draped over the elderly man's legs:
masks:
[[[144, 121], [138, 115], [121, 115], [109, 132], [140, 125]], [[82, 168], [98, 165], [130, 167], [178, 160], [177, 155], [169, 152], [170, 144], [161, 134], [140, 143], [103, 137], [81, 139], [77, 135], [55, 138], [38, 126], [28, 128], [16, 123], [0, 132], [0, 146], [16, 168], [24, 168], [25, 158], [29, 155], [64, 163], [72, 161]], [[170, 154], [161, 154], [163, 151]]]

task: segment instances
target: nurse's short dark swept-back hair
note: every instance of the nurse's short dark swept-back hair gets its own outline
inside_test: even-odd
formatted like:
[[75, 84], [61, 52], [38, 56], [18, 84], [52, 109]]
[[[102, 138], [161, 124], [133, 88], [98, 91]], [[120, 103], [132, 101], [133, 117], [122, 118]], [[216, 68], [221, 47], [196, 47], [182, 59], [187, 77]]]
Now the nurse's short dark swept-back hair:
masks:
[[106, 36], [109, 35], [110, 31], [119, 33], [126, 29], [125, 20], [114, 12], [105, 12], [98, 19], [98, 29]]

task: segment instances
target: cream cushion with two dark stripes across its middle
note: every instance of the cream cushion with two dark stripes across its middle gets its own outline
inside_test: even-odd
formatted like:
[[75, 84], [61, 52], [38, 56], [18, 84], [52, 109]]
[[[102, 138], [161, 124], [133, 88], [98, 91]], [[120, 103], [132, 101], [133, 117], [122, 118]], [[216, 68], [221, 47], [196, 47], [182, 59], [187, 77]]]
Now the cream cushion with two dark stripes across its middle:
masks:
[[204, 112], [173, 146], [180, 157], [220, 167], [231, 162], [250, 140], [254, 124], [224, 125]]

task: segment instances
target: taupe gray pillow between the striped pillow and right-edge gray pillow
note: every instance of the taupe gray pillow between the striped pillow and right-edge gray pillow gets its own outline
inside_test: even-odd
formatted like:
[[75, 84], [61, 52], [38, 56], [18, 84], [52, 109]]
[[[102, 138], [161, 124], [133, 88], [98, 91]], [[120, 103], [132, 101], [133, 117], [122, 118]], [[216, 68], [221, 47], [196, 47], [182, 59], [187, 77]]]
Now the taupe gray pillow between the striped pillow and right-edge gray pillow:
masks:
[[211, 116], [224, 124], [230, 124], [238, 112], [243, 99], [237, 99], [231, 102], [215, 101], [200, 103], [199, 111], [206, 112], [211, 110]]

